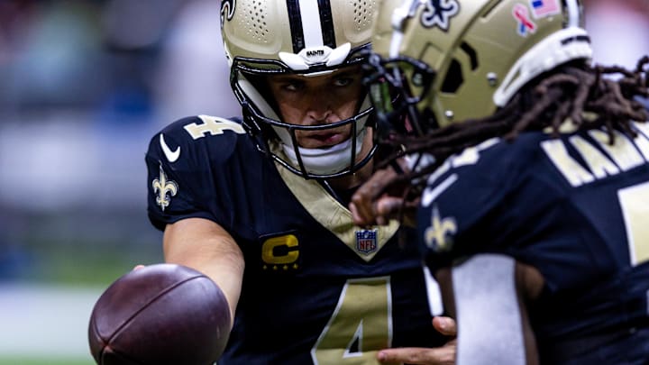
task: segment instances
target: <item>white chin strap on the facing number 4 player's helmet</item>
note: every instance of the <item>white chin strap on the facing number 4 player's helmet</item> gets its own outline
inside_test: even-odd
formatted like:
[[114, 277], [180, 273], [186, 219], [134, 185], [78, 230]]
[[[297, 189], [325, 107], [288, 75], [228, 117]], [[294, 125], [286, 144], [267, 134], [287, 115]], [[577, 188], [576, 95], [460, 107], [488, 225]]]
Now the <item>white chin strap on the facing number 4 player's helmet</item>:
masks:
[[[275, 111], [270, 107], [266, 99], [261, 96], [261, 93], [254, 87], [251, 82], [245, 78], [241, 73], [239, 74], [239, 79], [237, 80], [239, 86], [242, 88], [242, 91], [245, 92], [250, 98], [254, 105], [257, 106], [261, 114], [266, 117], [274, 120], [280, 120], [279, 116]], [[366, 96], [365, 100], [361, 105], [361, 111], [370, 108], [370, 97]], [[367, 121], [368, 116], [364, 115], [359, 118], [356, 122], [356, 151], [354, 152], [354, 157], [357, 157], [362, 150], [362, 144], [365, 140], [365, 122]], [[286, 128], [279, 127], [276, 125], [272, 126], [273, 130], [277, 133], [279, 141], [281, 143], [282, 150], [285, 152], [288, 157], [288, 162], [293, 165], [295, 168], [299, 169], [299, 163], [297, 161], [296, 147], [293, 145], [290, 133]], [[346, 169], [351, 166], [352, 162], [352, 138], [347, 141], [338, 143], [332, 147], [326, 149], [306, 149], [297, 146], [297, 152], [302, 158], [302, 163], [308, 173], [318, 174], [318, 175], [327, 175], [334, 174], [343, 169]]]

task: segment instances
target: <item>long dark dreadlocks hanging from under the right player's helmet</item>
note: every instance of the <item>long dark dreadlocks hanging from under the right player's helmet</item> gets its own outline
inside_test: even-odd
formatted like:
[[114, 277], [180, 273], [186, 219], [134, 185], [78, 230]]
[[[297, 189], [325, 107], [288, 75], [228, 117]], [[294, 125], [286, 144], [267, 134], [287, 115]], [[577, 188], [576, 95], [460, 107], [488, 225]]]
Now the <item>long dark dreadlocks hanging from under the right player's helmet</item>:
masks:
[[[649, 111], [636, 99], [649, 96], [648, 64], [649, 56], [639, 59], [635, 70], [573, 61], [535, 78], [507, 105], [487, 117], [451, 123], [424, 136], [391, 135], [380, 142], [397, 147], [397, 150], [400, 147], [400, 150], [379, 167], [394, 166], [398, 158], [414, 153], [430, 154], [434, 163], [404, 173], [386, 190], [410, 181], [404, 198], [416, 198], [425, 184], [421, 177], [439, 168], [453, 154], [494, 137], [513, 141], [519, 133], [526, 131], [550, 128], [552, 135], [558, 137], [562, 123], [567, 120], [577, 130], [604, 127], [611, 144], [615, 141], [615, 131], [633, 138], [636, 132], [632, 121], [649, 120]], [[621, 78], [606, 77], [614, 74]], [[593, 117], [584, 117], [585, 114]]]

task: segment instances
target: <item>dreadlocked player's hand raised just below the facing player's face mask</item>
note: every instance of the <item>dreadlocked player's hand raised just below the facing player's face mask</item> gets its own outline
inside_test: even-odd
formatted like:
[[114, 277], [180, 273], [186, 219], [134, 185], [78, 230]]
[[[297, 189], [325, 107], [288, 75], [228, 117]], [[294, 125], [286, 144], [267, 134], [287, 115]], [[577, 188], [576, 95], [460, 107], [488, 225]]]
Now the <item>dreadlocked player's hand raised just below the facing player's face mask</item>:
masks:
[[349, 206], [354, 224], [384, 225], [390, 219], [398, 219], [399, 214], [403, 213], [403, 223], [414, 225], [419, 200], [404, 201], [407, 186], [394, 184], [399, 176], [392, 167], [379, 169], [356, 190]]

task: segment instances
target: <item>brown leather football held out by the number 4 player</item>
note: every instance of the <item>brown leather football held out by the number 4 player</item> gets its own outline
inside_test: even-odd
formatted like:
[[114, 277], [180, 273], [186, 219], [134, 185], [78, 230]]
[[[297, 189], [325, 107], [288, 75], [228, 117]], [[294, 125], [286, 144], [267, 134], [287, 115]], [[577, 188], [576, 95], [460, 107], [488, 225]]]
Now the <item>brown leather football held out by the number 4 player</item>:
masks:
[[230, 309], [215, 282], [162, 263], [106, 288], [90, 315], [88, 342], [99, 365], [211, 365], [229, 331]]

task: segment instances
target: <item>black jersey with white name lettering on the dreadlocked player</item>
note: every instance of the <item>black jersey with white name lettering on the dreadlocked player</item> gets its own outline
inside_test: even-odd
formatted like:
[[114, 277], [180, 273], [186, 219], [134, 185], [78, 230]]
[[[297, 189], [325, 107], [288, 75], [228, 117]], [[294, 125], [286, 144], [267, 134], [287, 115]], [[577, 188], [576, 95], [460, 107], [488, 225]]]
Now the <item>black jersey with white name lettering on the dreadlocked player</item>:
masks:
[[542, 350], [646, 321], [649, 125], [637, 127], [635, 141], [617, 133], [613, 145], [599, 130], [526, 132], [445, 161], [418, 214], [425, 260], [489, 252], [540, 270], [544, 293], [530, 315]]

